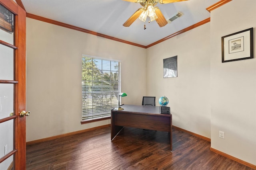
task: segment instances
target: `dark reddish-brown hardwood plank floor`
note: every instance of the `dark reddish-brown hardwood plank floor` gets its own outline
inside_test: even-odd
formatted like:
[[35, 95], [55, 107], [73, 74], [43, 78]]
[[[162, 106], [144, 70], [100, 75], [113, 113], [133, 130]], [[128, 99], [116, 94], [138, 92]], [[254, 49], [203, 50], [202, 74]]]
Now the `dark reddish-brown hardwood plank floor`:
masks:
[[125, 127], [110, 141], [110, 127], [27, 146], [27, 170], [252, 170], [210, 151], [210, 142], [173, 129]]

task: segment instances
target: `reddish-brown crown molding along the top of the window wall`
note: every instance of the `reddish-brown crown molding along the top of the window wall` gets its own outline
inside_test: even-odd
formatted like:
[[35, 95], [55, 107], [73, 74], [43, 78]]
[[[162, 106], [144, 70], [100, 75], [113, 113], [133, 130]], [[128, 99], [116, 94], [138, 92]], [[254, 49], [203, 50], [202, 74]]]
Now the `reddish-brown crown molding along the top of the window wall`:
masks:
[[48, 19], [48, 18], [36, 16], [34, 14], [27, 13], [26, 16], [28, 18], [32, 18], [32, 19], [35, 19], [35, 20], [44, 21], [44, 22], [47, 22], [47, 23], [52, 23], [54, 25], [59, 25], [59, 26], [66, 27], [66, 28], [69, 28], [69, 29], [74, 29], [76, 31], [81, 31], [81, 32], [84, 32], [84, 33], [89, 33], [89, 34], [92, 34], [92, 35], [96, 35], [98, 37], [103, 37], [103, 38], [111, 39], [111, 40], [118, 41], [118, 42], [121, 42], [121, 43], [126, 43], [126, 44], [134, 45], [134, 46], [137, 46], [137, 47], [146, 48], [146, 46], [144, 46], [144, 45], [132, 43], [130, 41], [125, 41], [125, 40], [122, 40], [122, 39], [119, 39], [119, 38], [111, 37], [111, 36], [108, 36], [108, 35], [104, 35], [102, 33], [97, 33], [97, 32], [94, 32], [94, 31], [90, 31], [88, 29], [76, 27], [76, 26], [69, 25], [69, 24], [66, 24], [66, 23], [63, 23], [63, 22], [54, 21], [54, 20], [51, 20], [51, 19]]

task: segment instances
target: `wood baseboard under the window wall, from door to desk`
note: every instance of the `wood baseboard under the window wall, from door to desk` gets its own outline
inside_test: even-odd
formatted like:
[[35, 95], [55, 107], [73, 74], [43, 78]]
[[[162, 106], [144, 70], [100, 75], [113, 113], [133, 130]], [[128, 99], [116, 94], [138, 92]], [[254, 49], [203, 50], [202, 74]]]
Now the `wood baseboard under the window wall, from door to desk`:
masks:
[[56, 135], [56, 136], [53, 136], [53, 137], [47, 137], [47, 138], [44, 138], [44, 139], [38, 139], [38, 140], [35, 140], [35, 141], [29, 141], [29, 142], [26, 142], [26, 145], [32, 145], [32, 144], [35, 144], [35, 143], [50, 141], [50, 140], [53, 140], [53, 139], [58, 139], [58, 138], [61, 138], [61, 137], [75, 135], [75, 134], [78, 134], [78, 133], [93, 131], [93, 130], [101, 129], [101, 128], [105, 128], [105, 127], [110, 127], [110, 124], [102, 125], [102, 126], [98, 126], [98, 127], [92, 127], [92, 128], [84, 129], [84, 130], [81, 130], [81, 131], [70, 132], [70, 133], [66, 133], [66, 134], [62, 134], [62, 135]]

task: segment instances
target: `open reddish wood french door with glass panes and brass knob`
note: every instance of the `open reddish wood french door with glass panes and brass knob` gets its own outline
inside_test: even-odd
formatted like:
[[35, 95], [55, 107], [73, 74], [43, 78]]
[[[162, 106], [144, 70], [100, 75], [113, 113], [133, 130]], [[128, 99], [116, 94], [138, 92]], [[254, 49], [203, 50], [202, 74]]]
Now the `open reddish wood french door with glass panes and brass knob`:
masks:
[[0, 0], [0, 170], [26, 169], [26, 12]]

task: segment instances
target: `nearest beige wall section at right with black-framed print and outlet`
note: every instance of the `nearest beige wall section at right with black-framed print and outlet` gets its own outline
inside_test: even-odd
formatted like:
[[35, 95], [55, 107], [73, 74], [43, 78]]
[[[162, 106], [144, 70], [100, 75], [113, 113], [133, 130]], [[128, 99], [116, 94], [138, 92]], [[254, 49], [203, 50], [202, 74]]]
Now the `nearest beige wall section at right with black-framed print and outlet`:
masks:
[[[256, 165], [256, 1], [211, 12], [211, 147]], [[221, 62], [221, 37], [254, 27], [254, 59]], [[218, 137], [225, 132], [225, 139]]]

